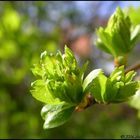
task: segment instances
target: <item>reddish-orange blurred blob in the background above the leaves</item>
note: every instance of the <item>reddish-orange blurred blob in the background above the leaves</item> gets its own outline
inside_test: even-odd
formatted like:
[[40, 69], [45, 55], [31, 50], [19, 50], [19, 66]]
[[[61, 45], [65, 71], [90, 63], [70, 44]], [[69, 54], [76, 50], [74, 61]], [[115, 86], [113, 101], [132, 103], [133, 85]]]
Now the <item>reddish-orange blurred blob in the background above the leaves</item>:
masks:
[[84, 28], [69, 26], [63, 30], [62, 46], [67, 45], [79, 57], [88, 57], [91, 52], [91, 36]]

